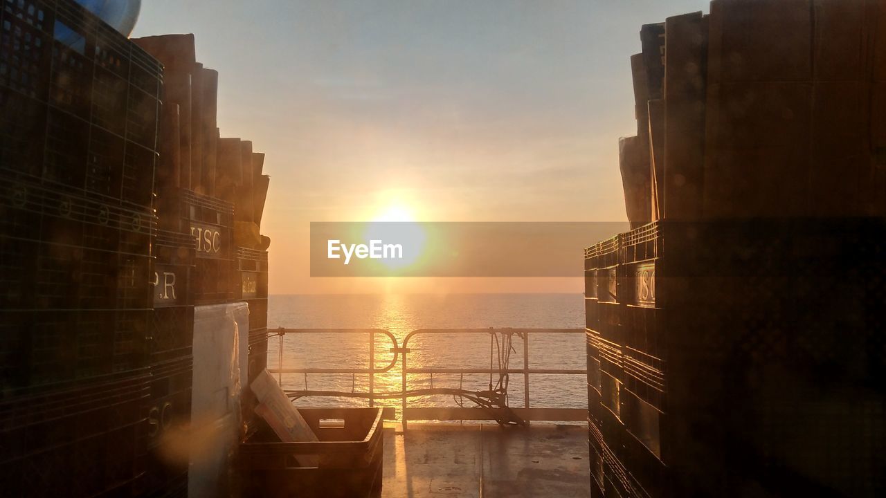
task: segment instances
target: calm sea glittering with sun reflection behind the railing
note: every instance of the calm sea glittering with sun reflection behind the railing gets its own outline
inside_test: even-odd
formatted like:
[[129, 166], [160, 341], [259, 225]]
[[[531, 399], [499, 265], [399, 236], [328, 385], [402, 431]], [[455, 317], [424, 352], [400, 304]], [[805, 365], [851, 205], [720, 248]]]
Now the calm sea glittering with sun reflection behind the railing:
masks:
[[[525, 327], [581, 329], [584, 305], [580, 294], [457, 294], [436, 295], [336, 295], [271, 296], [268, 300], [268, 327], [299, 329], [374, 328], [391, 331], [402, 346], [410, 331], [429, 328]], [[376, 338], [376, 367], [391, 362], [390, 339]], [[489, 368], [490, 349], [495, 368], [498, 349], [490, 345], [490, 334], [418, 335], [409, 340], [410, 368]], [[510, 365], [523, 365], [523, 342], [513, 338], [516, 350]], [[369, 334], [288, 335], [283, 342], [285, 368], [365, 369], [369, 366]], [[268, 368], [278, 363], [279, 343], [268, 342]], [[529, 363], [540, 369], [584, 369], [584, 334], [534, 334], [529, 338]], [[400, 391], [400, 366], [377, 374], [376, 392]], [[367, 375], [284, 374], [287, 389], [365, 392]], [[494, 377], [493, 382], [497, 381]], [[408, 389], [459, 387], [472, 391], [487, 389], [488, 374], [410, 374]], [[587, 407], [587, 380], [581, 375], [533, 375], [530, 402], [533, 407]], [[522, 407], [523, 375], [509, 383], [509, 404]], [[299, 401], [306, 406], [367, 406], [365, 400], [310, 397]], [[380, 406], [400, 406], [400, 400], [378, 401]], [[455, 406], [450, 396], [411, 398], [410, 406]], [[470, 403], [469, 403], [470, 404]], [[467, 406], [467, 405], [466, 405]]]

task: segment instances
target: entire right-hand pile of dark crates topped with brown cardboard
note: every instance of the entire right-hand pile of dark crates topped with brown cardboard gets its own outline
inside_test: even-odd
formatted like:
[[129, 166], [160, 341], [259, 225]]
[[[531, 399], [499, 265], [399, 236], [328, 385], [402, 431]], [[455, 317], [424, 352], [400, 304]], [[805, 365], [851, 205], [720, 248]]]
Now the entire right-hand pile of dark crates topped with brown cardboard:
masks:
[[719, 0], [642, 27], [633, 230], [586, 251], [595, 494], [882, 494], [884, 19]]

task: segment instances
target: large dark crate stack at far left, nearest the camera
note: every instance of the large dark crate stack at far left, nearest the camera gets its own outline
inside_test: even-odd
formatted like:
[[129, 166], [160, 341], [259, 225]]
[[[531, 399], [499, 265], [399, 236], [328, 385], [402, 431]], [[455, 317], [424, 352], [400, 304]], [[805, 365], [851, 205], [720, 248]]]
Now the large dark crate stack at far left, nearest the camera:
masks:
[[0, 488], [135, 494], [162, 68], [67, 0], [0, 3]]

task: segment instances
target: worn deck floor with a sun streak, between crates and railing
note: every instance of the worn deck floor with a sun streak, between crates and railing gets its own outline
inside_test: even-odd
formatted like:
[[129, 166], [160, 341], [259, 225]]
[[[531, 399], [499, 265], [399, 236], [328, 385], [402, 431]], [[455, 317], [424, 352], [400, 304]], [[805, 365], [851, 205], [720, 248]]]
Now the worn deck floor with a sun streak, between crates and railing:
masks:
[[385, 429], [382, 496], [587, 497], [587, 428], [409, 424]]

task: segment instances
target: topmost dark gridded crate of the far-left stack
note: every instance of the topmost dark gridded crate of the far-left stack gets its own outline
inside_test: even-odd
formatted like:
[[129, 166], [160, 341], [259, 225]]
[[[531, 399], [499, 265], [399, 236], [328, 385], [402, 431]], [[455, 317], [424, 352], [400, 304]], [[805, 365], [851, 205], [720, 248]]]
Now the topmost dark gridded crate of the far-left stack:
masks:
[[4, 2], [4, 175], [151, 206], [161, 67], [74, 2]]

